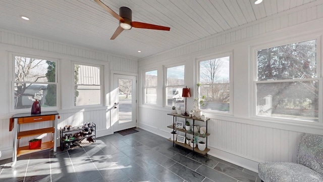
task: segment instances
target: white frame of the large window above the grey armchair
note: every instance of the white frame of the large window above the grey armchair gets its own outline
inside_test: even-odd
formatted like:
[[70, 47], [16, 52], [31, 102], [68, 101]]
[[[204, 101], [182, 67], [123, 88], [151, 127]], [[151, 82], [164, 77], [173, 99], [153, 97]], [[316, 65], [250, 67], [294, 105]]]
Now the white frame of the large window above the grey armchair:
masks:
[[[280, 122], [280, 123], [291, 123], [291, 124], [306, 124], [306, 125], [317, 125], [317, 124], [322, 124], [323, 122], [323, 114], [322, 114], [322, 109], [323, 109], [323, 68], [321, 64], [321, 37], [320, 36], [302, 36], [303, 38], [299, 38], [299, 37], [294, 37], [294, 38], [290, 38], [288, 40], [278, 40], [278, 41], [272, 41], [272, 42], [268, 42], [265, 44], [261, 44], [261, 45], [255, 45], [254, 47], [251, 47], [250, 52], [251, 52], [251, 63], [250, 63], [250, 70], [252, 70], [252, 76], [251, 76], [251, 83], [250, 84], [250, 108], [249, 108], [249, 115], [252, 118], [255, 119], [260, 119], [262, 121], [274, 121], [274, 122]], [[278, 47], [280, 45], [287, 45], [287, 44], [291, 44], [291, 43], [296, 43], [296, 42], [303, 42], [303, 41], [308, 41], [308, 40], [314, 40], [316, 39], [316, 73], [317, 73], [317, 79], [319, 82], [319, 86], [318, 86], [318, 95], [321, 96], [318, 99], [318, 121], [305, 121], [305, 120], [296, 120], [296, 119], [290, 119], [290, 118], [279, 118], [279, 117], [262, 117], [262, 116], [257, 116], [257, 104], [256, 104], [256, 83], [259, 83], [259, 81], [257, 81], [257, 51], [258, 50], [262, 50], [262, 49], [268, 49], [268, 48], [273, 48], [273, 47]], [[312, 78], [313, 80], [314, 78]], [[295, 80], [295, 81], [300, 81], [299, 79]], [[283, 80], [279, 80], [278, 82], [283, 82]]]

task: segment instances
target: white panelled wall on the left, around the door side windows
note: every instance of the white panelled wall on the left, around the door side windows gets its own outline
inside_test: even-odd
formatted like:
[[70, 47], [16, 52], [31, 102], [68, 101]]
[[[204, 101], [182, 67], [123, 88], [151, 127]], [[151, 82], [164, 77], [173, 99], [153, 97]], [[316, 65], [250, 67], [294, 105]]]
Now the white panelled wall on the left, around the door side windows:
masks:
[[[59, 103], [55, 108], [60, 114], [58, 128], [65, 125], [82, 125], [84, 122], [96, 123], [96, 135], [102, 136], [113, 133], [110, 97], [114, 88], [113, 73], [137, 75], [138, 62], [136, 59], [105, 54], [73, 45], [62, 44], [50, 40], [44, 40], [29, 35], [0, 29], [0, 150], [2, 158], [11, 158], [13, 150], [13, 131], [9, 131], [9, 118], [15, 113], [29, 113], [30, 109], [14, 111], [11, 106], [12, 89], [11, 75], [13, 53], [27, 54], [35, 57], [46, 57], [58, 60]], [[99, 107], [74, 107], [73, 90], [73, 62], [95, 64], [103, 66], [103, 95], [104, 104]], [[42, 108], [42, 112], [46, 108]], [[26, 125], [21, 129], [41, 127], [41, 124]], [[23, 139], [21, 142], [27, 142]], [[59, 144], [59, 143], [58, 143]], [[28, 145], [28, 143], [26, 143]]]

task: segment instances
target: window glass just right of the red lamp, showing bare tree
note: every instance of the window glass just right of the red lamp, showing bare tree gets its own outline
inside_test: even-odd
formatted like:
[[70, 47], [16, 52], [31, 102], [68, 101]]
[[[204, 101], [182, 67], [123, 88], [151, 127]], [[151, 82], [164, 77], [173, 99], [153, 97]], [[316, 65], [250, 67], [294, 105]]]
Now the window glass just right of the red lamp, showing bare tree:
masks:
[[230, 56], [199, 62], [202, 109], [230, 112]]

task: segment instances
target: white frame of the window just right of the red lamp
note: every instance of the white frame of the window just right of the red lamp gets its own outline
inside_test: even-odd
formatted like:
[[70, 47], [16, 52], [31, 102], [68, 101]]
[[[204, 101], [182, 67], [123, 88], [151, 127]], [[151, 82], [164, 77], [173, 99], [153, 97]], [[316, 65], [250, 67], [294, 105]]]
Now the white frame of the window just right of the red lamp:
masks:
[[200, 57], [196, 59], [196, 80], [197, 82], [194, 84], [194, 95], [197, 95], [196, 91], [196, 84], [200, 83], [200, 62], [211, 60], [211, 59], [219, 59], [229, 57], [229, 85], [230, 85], [230, 99], [229, 99], [229, 112], [223, 112], [223, 111], [216, 111], [216, 110], [203, 110], [214, 114], [224, 114], [224, 115], [232, 115], [233, 114], [233, 52], [224, 52], [224, 53], [218, 53], [218, 54], [212, 54], [205, 57]]

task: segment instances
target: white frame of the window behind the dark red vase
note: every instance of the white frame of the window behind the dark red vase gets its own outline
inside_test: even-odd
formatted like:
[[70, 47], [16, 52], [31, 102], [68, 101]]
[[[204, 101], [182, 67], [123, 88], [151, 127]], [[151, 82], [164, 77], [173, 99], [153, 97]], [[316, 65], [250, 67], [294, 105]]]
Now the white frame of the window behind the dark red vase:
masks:
[[10, 90], [11, 90], [11, 111], [13, 112], [30, 112], [30, 108], [27, 109], [15, 109], [15, 91], [14, 91], [14, 85], [15, 85], [15, 57], [19, 56], [19, 57], [26, 57], [26, 58], [37, 58], [37, 59], [42, 59], [42, 60], [48, 60], [48, 61], [55, 61], [56, 62], [56, 69], [55, 69], [55, 76], [56, 76], [56, 82], [39, 82], [39, 83], [49, 83], [49, 84], [55, 84], [56, 85], [56, 106], [54, 107], [43, 107], [41, 108], [41, 111], [52, 111], [52, 110], [58, 110], [58, 106], [59, 106], [59, 90], [60, 90], [60, 85], [58, 82], [59, 79], [59, 75], [58, 75], [58, 70], [59, 70], [59, 59], [56, 58], [49, 58], [49, 57], [45, 57], [45, 56], [35, 56], [35, 55], [30, 55], [30, 54], [23, 54], [23, 53], [11, 53], [9, 54], [9, 70], [11, 70], [11, 84], [10, 84]]

